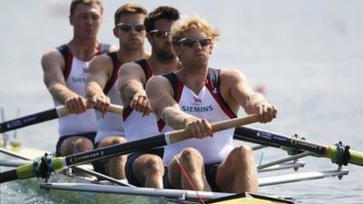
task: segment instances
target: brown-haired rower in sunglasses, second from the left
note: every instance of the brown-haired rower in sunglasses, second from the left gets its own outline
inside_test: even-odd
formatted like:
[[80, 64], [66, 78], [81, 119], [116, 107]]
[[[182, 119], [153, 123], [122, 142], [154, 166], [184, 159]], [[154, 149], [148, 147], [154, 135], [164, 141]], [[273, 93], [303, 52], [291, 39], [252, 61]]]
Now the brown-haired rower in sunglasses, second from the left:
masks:
[[[143, 21], [147, 15], [141, 5], [125, 4], [114, 14], [113, 35], [119, 40], [119, 49], [97, 56], [90, 63], [86, 81], [86, 96], [93, 108], [98, 110], [98, 129], [94, 139], [95, 148], [126, 141], [120, 114], [106, 112], [110, 103], [122, 105], [118, 91], [118, 70], [123, 63], [147, 56], [143, 43], [146, 38]], [[94, 169], [115, 179], [126, 179], [124, 165], [126, 156], [96, 161]]]

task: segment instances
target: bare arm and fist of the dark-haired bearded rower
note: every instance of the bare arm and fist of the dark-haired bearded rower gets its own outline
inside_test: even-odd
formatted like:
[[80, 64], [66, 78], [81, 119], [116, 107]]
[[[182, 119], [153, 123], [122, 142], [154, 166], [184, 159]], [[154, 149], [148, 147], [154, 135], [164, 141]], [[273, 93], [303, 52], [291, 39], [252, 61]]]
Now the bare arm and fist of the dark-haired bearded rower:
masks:
[[118, 73], [119, 90], [124, 106], [130, 106], [137, 112], [147, 115], [151, 112], [149, 100], [143, 89], [145, 74], [137, 63], [124, 63]]

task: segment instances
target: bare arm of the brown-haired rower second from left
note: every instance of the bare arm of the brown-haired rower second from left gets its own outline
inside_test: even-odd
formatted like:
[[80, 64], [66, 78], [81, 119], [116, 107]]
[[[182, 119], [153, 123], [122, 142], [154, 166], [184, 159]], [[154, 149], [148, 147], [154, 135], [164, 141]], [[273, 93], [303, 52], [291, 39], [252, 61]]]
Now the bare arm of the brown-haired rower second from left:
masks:
[[85, 92], [88, 102], [96, 110], [105, 114], [110, 106], [110, 98], [103, 93], [113, 71], [113, 62], [106, 54], [96, 56], [88, 68], [88, 77], [85, 83]]

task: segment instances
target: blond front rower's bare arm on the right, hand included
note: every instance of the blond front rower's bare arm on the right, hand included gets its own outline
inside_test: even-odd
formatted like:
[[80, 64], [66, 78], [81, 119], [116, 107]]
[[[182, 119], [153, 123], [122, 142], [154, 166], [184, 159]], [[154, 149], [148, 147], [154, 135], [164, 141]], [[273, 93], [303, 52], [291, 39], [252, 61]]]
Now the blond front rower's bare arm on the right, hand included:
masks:
[[254, 92], [240, 71], [224, 70], [221, 73], [221, 80], [221, 89], [228, 92], [227, 101], [237, 102], [248, 114], [261, 114], [261, 122], [268, 122], [276, 117], [276, 107], [267, 102], [263, 95]]

